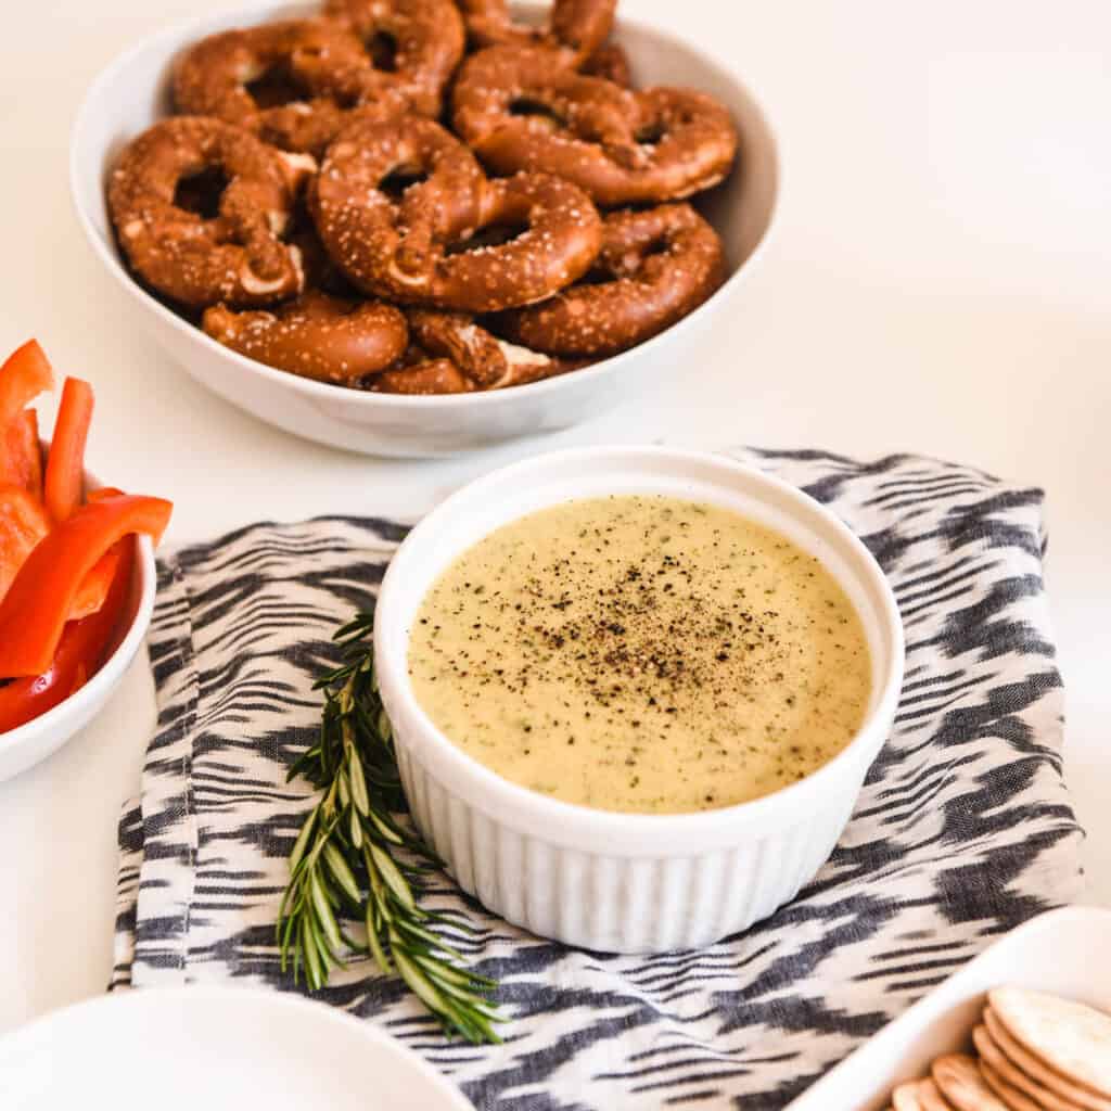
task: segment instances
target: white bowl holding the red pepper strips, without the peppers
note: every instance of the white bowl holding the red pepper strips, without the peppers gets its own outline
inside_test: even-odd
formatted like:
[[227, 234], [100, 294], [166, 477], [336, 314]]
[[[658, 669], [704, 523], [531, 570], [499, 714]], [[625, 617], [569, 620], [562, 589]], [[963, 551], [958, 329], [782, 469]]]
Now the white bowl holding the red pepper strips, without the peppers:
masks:
[[[46, 446], [43, 446], [46, 450]], [[97, 490], [102, 482], [88, 471], [86, 487]], [[100, 670], [76, 693], [53, 709], [17, 729], [0, 733], [0, 782], [46, 760], [70, 738], [79, 733], [100, 712], [109, 695], [120, 684], [139, 645], [147, 635], [154, 612], [154, 547], [150, 537], [134, 537], [137, 544], [131, 591], [116, 630], [116, 644]]]

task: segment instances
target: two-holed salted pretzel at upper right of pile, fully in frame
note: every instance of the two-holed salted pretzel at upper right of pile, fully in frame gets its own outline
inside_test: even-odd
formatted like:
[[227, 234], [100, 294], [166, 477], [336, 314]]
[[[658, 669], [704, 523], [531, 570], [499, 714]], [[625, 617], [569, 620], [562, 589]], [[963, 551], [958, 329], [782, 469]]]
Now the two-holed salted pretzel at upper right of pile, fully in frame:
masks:
[[494, 172], [556, 173], [604, 207], [690, 197], [723, 180], [737, 153], [729, 112], [713, 98], [632, 92], [567, 70], [551, 50], [492, 47], [469, 58], [453, 121]]

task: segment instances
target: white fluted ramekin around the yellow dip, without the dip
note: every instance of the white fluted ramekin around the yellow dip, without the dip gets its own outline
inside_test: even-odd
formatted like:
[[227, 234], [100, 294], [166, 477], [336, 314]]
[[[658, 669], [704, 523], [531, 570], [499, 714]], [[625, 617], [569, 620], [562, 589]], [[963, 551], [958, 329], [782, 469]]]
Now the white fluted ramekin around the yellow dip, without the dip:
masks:
[[[417, 702], [409, 631], [427, 590], [458, 554], [546, 506], [631, 492], [712, 502], [778, 529], [820, 558], [852, 600], [872, 654], [871, 704], [857, 737], [812, 775], [704, 813], [591, 810], [502, 779], [448, 740]], [[903, 634], [894, 595], [868, 549], [794, 487], [719, 456], [597, 448], [496, 471], [424, 518], [382, 582], [374, 660], [417, 824], [460, 887], [542, 937], [657, 952], [743, 930], [813, 878], [890, 730]]]

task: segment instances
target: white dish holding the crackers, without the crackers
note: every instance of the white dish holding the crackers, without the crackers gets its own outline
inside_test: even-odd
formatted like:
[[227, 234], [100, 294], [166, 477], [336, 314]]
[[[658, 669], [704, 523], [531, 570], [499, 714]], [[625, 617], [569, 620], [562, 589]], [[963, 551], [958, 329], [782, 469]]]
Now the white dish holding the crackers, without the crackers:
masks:
[[925, 1075], [942, 1053], [969, 1050], [984, 995], [1002, 984], [1050, 991], [1111, 1010], [1111, 910], [1049, 911], [1007, 934], [884, 1027], [787, 1111], [877, 1111], [891, 1089]]

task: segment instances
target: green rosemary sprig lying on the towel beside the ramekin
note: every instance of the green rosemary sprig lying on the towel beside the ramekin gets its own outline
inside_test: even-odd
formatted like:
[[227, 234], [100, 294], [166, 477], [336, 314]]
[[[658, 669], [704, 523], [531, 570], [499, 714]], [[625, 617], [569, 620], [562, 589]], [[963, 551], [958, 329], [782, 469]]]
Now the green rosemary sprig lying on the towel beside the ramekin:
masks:
[[[434, 852], [397, 817], [408, 812], [389, 718], [378, 693], [371, 634], [373, 610], [359, 613], [334, 639], [342, 663], [317, 681], [324, 692], [320, 739], [290, 769], [322, 792], [290, 853], [289, 885], [278, 912], [282, 972], [303, 972], [313, 991], [349, 951], [369, 951], [394, 972], [449, 1034], [500, 1041], [502, 1021], [488, 997], [493, 980], [463, 967], [463, 957], [432, 929], [466, 928], [420, 905], [424, 874], [441, 867]], [[362, 922], [367, 941], [343, 923]]]

